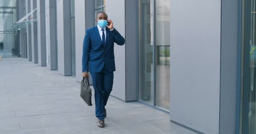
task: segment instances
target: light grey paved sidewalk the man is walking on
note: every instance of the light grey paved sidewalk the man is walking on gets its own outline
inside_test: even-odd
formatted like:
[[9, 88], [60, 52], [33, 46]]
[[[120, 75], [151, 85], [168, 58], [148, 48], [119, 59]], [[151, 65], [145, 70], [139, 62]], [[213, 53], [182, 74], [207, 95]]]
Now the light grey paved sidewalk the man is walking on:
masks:
[[79, 95], [75, 77], [64, 77], [27, 59], [3, 59], [0, 134], [195, 134], [170, 123], [166, 113], [112, 97], [106, 127], [99, 128], [94, 101], [89, 107]]

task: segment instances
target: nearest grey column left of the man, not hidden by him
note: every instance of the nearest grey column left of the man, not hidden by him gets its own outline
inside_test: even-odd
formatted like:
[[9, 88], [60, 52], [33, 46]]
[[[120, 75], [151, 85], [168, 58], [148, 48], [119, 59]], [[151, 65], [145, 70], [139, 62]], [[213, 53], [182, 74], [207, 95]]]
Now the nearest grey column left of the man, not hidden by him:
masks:
[[72, 75], [70, 5], [70, 0], [57, 1], [58, 70], [61, 75], [65, 76]]

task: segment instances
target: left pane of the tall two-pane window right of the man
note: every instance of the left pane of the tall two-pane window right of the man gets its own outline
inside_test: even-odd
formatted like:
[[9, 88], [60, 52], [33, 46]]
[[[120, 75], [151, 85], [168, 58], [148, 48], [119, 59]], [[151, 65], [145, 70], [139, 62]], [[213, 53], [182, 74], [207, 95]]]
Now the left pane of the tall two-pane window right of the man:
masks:
[[154, 103], [154, 0], [141, 0], [139, 20], [139, 99], [153, 105]]

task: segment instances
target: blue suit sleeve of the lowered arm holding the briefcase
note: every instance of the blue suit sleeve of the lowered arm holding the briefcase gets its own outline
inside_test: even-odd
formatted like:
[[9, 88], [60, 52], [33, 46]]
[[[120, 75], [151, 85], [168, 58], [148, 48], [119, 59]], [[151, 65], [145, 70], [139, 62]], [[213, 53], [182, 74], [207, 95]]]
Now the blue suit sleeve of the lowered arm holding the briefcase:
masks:
[[82, 57], [82, 71], [83, 72], [89, 72], [89, 56], [90, 56], [90, 50], [91, 50], [91, 39], [90, 39], [90, 33], [87, 30], [85, 33], [85, 38], [83, 40], [83, 57]]

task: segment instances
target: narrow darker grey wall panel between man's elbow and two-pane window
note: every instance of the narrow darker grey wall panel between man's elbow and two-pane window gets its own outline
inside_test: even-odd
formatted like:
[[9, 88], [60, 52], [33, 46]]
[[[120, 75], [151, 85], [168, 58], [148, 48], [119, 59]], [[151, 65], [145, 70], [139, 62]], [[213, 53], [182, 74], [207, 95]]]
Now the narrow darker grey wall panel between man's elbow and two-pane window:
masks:
[[125, 0], [125, 101], [138, 99], [138, 0]]

